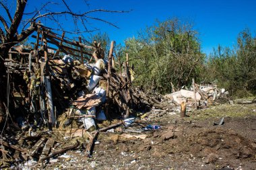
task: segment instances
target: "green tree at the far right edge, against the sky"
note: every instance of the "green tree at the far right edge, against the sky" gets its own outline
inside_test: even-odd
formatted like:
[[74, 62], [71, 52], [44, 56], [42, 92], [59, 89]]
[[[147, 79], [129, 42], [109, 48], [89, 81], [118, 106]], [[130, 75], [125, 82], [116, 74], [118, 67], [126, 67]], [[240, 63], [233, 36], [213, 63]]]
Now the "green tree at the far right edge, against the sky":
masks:
[[[238, 34], [234, 48], [218, 46], [206, 61], [202, 75], [208, 81], [218, 81], [231, 95], [245, 97], [256, 94], [256, 38], [248, 28]], [[208, 74], [211, 73], [211, 74]]]

